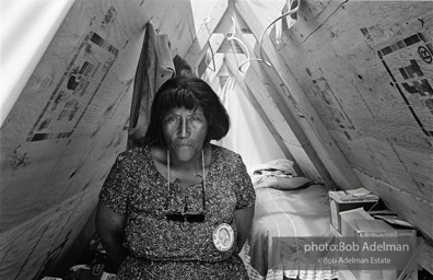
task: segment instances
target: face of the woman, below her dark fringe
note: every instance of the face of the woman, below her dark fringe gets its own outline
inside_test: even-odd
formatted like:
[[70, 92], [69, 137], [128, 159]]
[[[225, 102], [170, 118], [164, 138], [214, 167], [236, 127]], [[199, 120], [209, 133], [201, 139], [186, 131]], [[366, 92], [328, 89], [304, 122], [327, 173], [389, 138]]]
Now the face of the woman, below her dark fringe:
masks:
[[188, 162], [201, 156], [208, 133], [208, 121], [203, 109], [173, 108], [164, 116], [163, 133], [171, 153], [179, 161]]

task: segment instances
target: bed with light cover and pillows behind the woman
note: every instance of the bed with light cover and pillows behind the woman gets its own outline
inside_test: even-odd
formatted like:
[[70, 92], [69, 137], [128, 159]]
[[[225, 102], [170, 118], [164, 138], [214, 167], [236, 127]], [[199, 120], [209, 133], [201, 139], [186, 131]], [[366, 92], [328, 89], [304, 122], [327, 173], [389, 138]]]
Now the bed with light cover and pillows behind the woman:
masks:
[[244, 246], [249, 278], [336, 279], [337, 269], [309, 261], [302, 249], [312, 238], [333, 238], [328, 188], [296, 176], [289, 160], [251, 166], [248, 172], [256, 190], [255, 218]]

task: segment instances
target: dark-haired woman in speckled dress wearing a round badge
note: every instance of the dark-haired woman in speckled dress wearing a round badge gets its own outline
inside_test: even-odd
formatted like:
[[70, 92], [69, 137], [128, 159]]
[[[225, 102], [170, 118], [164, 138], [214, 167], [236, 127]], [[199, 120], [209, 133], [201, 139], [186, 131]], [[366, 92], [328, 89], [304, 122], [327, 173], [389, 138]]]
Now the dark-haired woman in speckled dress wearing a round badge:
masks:
[[229, 127], [201, 79], [156, 92], [145, 144], [118, 155], [100, 195], [96, 229], [116, 279], [248, 279], [237, 253], [255, 191], [241, 156], [210, 143]]

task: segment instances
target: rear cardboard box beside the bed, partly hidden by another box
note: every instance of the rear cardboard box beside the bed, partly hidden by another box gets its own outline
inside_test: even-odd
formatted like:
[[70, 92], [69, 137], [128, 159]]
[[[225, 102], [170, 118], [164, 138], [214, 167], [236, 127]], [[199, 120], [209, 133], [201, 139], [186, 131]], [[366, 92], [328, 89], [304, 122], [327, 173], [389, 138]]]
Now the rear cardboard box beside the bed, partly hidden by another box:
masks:
[[363, 208], [371, 210], [378, 203], [378, 197], [374, 195], [358, 196], [355, 192], [347, 191], [329, 191], [330, 205], [330, 220], [333, 229], [341, 234], [341, 218], [340, 212]]

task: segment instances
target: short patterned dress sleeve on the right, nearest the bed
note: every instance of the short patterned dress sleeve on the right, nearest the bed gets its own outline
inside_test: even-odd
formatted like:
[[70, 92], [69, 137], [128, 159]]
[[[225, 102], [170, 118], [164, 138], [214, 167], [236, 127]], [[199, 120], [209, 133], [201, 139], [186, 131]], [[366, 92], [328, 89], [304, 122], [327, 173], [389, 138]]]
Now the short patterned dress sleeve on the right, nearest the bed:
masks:
[[250, 207], [256, 201], [256, 192], [253, 187], [251, 178], [242, 161], [241, 155], [236, 159], [236, 210]]

